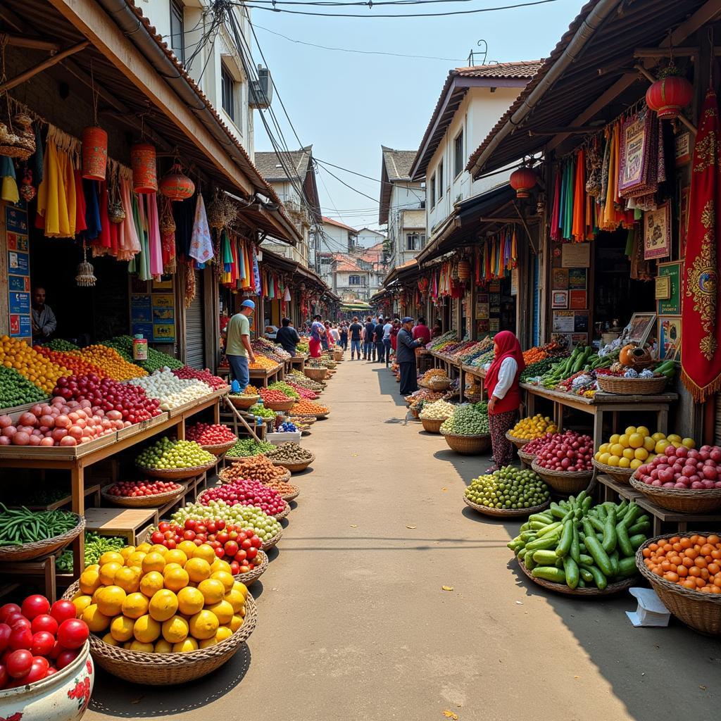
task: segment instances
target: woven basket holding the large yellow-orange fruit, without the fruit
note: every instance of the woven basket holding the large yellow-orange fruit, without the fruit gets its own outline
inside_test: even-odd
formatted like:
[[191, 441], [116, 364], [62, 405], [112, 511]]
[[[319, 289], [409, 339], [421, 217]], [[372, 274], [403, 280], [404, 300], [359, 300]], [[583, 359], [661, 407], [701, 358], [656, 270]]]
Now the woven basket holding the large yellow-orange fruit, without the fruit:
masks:
[[[63, 594], [69, 600], [79, 588], [76, 581]], [[93, 660], [112, 676], [143, 686], [167, 686], [185, 684], [195, 678], [207, 676], [232, 656], [247, 641], [257, 622], [255, 599], [248, 594], [245, 599], [243, 625], [229, 638], [215, 646], [189, 651], [188, 653], [145, 653], [131, 651], [122, 646], [111, 646], [90, 634], [90, 653]]]

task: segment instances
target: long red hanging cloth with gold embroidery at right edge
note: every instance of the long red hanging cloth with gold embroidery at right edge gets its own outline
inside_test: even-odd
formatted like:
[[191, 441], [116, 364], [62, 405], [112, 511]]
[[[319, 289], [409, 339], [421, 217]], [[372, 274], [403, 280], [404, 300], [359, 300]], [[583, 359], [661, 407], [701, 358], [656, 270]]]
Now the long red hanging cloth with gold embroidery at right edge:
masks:
[[709, 89], [694, 145], [689, 234], [681, 308], [681, 380], [697, 403], [721, 389], [721, 323], [718, 322], [721, 234], [721, 125]]

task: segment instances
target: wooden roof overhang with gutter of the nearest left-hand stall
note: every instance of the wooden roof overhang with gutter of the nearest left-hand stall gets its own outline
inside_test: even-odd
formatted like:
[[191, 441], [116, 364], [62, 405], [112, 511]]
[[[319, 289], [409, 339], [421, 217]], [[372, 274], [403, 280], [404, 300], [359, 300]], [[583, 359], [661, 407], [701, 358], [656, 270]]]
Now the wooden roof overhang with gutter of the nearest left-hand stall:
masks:
[[[22, 52], [36, 69], [47, 68], [91, 105], [97, 92], [101, 123], [144, 136], [162, 153], [180, 152], [208, 185], [247, 203], [249, 225], [291, 244], [301, 241], [275, 190], [133, 0], [8, 0], [0, 4], [0, 21], [4, 32], [35, 40]], [[48, 59], [49, 45], [60, 52]]]

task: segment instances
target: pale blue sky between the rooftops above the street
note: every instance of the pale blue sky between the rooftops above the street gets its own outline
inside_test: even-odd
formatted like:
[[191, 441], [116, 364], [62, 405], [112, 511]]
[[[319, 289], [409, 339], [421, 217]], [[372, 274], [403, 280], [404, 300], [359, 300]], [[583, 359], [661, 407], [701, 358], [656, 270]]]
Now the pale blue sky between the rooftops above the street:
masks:
[[[417, 150], [451, 68], [468, 64], [479, 40], [488, 45], [487, 62], [545, 58], [578, 14], [582, 0], [450, 17], [374, 18], [378, 14], [454, 12], [510, 5], [528, 0], [456, 0], [406, 6], [329, 6], [278, 4], [306, 12], [353, 12], [368, 17], [310, 17], [253, 9], [258, 45], [255, 58], [273, 76], [273, 110], [288, 147], [313, 146], [313, 155], [380, 180], [381, 145]], [[253, 4], [253, 0], [248, 0]], [[260, 6], [260, 4], [258, 5]], [[265, 7], [270, 7], [267, 3]], [[272, 32], [271, 32], [272, 31]], [[324, 50], [293, 43], [346, 50], [398, 53], [405, 58]], [[474, 64], [483, 62], [476, 54]], [[283, 101], [291, 123], [283, 115]], [[262, 121], [255, 117], [256, 151], [272, 150]], [[469, 149], [469, 152], [475, 149]], [[343, 182], [332, 177], [337, 175]], [[361, 229], [378, 228], [380, 184], [337, 168], [321, 169], [318, 190], [325, 216]], [[373, 200], [371, 200], [373, 198]]]

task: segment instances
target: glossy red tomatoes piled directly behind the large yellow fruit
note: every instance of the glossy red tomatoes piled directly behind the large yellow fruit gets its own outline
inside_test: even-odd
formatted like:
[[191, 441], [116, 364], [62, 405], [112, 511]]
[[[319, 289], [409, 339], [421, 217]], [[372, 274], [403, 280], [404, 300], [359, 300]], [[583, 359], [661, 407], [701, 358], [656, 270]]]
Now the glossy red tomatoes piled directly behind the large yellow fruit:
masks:
[[230, 564], [233, 575], [247, 573], [255, 568], [258, 551], [262, 546], [255, 531], [244, 529], [236, 523], [213, 521], [211, 518], [202, 521], [186, 518], [182, 525], [162, 521], [158, 530], [153, 531], [151, 541], [167, 549], [174, 549], [182, 541], [192, 541], [196, 546], [208, 544], [219, 559]]

